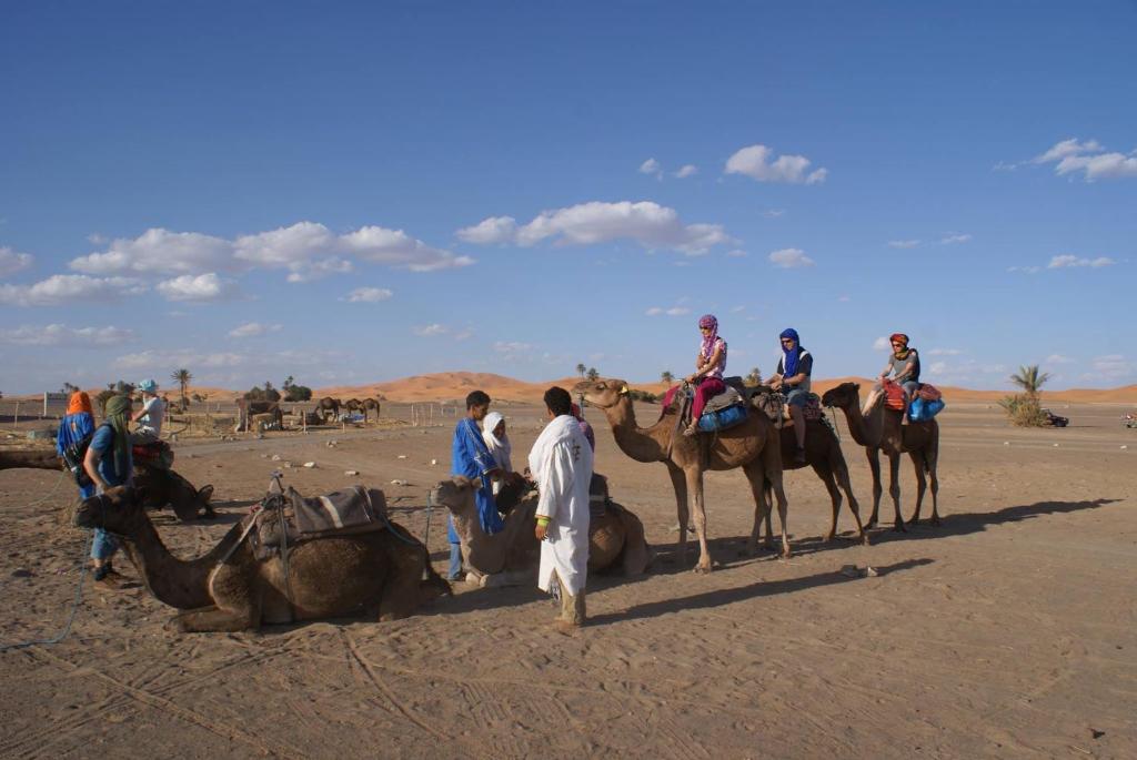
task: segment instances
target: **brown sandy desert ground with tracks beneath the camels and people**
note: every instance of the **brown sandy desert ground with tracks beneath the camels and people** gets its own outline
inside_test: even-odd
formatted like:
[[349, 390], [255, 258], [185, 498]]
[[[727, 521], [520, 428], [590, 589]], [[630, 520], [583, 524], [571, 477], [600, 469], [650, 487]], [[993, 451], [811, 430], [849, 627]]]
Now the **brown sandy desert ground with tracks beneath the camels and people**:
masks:
[[[521, 461], [539, 410], [506, 411]], [[391, 624], [183, 636], [144, 590], [88, 583], [68, 638], [0, 653], [0, 755], [1137, 757], [1137, 431], [1118, 424], [1121, 411], [1076, 404], [1062, 411], [1070, 428], [1014, 431], [997, 409], [953, 406], [943, 525], [879, 528], [869, 548], [823, 543], [828, 496], [811, 473], [791, 473], [788, 561], [740, 554], [748, 490], [740, 473], [712, 474], [720, 567], [700, 576], [694, 553], [674, 556], [663, 466], [628, 459], [590, 410], [597, 468], [659, 556], [644, 578], [592, 579], [591, 625], [578, 635], [549, 632], [553, 604], [533, 588], [459, 587]], [[423, 537], [450, 424], [180, 443], [179, 470], [216, 486], [223, 518], [156, 521], [179, 553], [205, 551], [264, 495], [275, 453], [317, 462], [287, 470], [305, 493], [381, 485]], [[868, 510], [863, 453], [840, 429]], [[907, 462], [902, 487], [907, 516]], [[0, 643], [64, 623], [84, 541], [57, 523], [69, 494], [52, 473], [0, 471]], [[886, 525], [890, 515], [883, 506]], [[429, 544], [443, 570], [438, 512]], [[880, 576], [850, 579], [845, 565]]]

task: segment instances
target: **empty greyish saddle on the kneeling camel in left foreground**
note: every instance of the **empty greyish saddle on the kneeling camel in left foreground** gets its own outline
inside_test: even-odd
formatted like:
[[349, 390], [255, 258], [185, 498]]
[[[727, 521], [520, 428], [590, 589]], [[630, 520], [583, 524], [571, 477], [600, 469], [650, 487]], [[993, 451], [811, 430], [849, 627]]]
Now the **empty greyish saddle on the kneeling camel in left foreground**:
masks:
[[265, 496], [248, 519], [254, 521], [249, 540], [255, 553], [265, 559], [283, 545], [384, 529], [387, 496], [379, 488], [357, 485], [308, 499], [289, 486], [283, 494]]

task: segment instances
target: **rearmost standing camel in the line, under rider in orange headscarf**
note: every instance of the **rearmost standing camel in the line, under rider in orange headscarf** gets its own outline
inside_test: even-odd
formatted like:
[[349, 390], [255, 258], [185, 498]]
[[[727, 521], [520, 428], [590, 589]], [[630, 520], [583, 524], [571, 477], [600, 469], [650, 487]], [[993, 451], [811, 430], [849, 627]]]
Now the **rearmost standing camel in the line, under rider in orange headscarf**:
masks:
[[841, 383], [821, 396], [827, 407], [837, 407], [845, 412], [849, 433], [853, 440], [864, 446], [872, 470], [872, 516], [865, 527], [877, 524], [877, 511], [880, 508], [880, 495], [883, 491], [880, 481], [880, 452], [888, 456], [889, 485], [888, 493], [893, 496], [896, 508], [896, 531], [905, 531], [904, 518], [901, 516], [901, 454], [907, 453], [916, 470], [916, 510], [908, 520], [913, 525], [920, 521], [920, 507], [923, 503], [928, 483], [924, 474], [931, 479], [931, 524], [939, 525], [939, 478], [936, 466], [939, 459], [939, 423], [930, 419], [926, 423], [901, 425], [903, 412], [885, 407], [883, 393], [871, 393], [861, 409], [861, 386], [857, 383]]

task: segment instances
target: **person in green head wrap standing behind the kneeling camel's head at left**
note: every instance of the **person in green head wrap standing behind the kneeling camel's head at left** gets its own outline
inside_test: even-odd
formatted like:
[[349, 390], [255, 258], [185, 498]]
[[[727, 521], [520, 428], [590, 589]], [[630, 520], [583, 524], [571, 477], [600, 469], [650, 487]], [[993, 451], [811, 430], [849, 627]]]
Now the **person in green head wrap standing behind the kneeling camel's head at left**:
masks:
[[[130, 485], [134, 475], [131, 458], [130, 432], [131, 398], [125, 394], [107, 400], [102, 425], [94, 431], [91, 445], [83, 460], [83, 469], [94, 482], [96, 493], [102, 493], [116, 485]], [[91, 559], [94, 562], [96, 583], [108, 588], [118, 587], [118, 574], [110, 565], [110, 558], [118, 551], [118, 542], [102, 528], [94, 529]]]

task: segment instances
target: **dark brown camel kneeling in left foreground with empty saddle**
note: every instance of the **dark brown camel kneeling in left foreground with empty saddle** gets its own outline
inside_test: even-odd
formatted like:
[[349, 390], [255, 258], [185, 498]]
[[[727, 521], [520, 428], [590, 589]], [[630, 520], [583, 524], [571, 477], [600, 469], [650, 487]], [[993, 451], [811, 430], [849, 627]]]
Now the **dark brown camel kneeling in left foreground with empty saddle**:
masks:
[[289, 551], [287, 579], [279, 556], [257, 559], [250, 542], [242, 541], [244, 521], [205, 557], [177, 559], [161, 543], [133, 488], [84, 500], [75, 525], [123, 537], [123, 549], [150, 593], [184, 610], [173, 620], [184, 633], [256, 630], [262, 624], [360, 611], [395, 620], [450, 591], [431, 569], [422, 543], [395, 523], [388, 529], [297, 543]]

